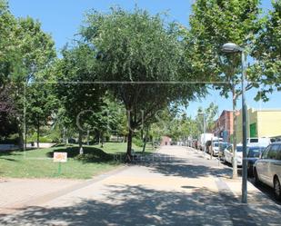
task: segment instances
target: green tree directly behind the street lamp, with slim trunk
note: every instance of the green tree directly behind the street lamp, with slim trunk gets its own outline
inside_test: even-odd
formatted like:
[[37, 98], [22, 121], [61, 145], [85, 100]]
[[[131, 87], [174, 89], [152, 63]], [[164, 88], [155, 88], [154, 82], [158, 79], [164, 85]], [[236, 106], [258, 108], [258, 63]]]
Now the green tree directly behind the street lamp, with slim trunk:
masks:
[[[205, 74], [204, 82], [214, 82], [221, 95], [232, 94], [234, 112], [234, 149], [236, 150], [236, 101], [241, 93], [239, 88], [241, 74], [241, 55], [224, 54], [221, 46], [228, 42], [245, 48], [246, 53], [254, 56], [256, 37], [261, 31], [264, 19], [261, 16], [258, 0], [197, 0], [190, 16], [190, 33], [186, 42], [193, 46], [194, 70]], [[202, 56], [202, 57], [200, 57]], [[256, 86], [258, 74], [248, 70], [246, 89]], [[207, 75], [207, 76], [206, 76]], [[236, 152], [235, 152], [236, 154]], [[236, 157], [234, 157], [236, 160]], [[234, 163], [233, 177], [237, 177]]]

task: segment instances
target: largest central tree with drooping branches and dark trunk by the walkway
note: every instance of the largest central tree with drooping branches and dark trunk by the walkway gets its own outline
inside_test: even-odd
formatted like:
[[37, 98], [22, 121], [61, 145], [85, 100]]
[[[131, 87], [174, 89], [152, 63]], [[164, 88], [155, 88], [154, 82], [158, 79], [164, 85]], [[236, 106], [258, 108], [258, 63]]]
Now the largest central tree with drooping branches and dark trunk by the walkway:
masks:
[[169, 103], [201, 91], [196, 85], [161, 84], [191, 76], [177, 26], [166, 25], [160, 15], [117, 8], [107, 15], [90, 12], [81, 34], [95, 48], [101, 80], [114, 82], [107, 87], [125, 105], [130, 159], [135, 129]]

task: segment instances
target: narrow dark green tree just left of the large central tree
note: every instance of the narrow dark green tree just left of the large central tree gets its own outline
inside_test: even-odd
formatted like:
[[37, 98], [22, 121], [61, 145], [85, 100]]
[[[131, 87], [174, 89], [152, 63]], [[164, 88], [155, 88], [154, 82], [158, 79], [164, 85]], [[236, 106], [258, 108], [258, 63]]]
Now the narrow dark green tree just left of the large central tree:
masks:
[[92, 49], [85, 44], [65, 48], [55, 64], [55, 93], [64, 106], [65, 117], [79, 133], [80, 153], [83, 134], [93, 131], [101, 120], [103, 85], [95, 84], [97, 74]]

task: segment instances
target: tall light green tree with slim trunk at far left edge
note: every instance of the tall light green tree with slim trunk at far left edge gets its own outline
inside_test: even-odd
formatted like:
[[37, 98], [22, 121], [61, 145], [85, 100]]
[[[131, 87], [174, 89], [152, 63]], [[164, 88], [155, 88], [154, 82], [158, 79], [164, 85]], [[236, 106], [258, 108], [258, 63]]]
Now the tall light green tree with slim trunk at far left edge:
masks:
[[15, 104], [13, 117], [22, 147], [28, 103], [25, 88], [48, 78], [49, 74], [43, 72], [54, 58], [54, 42], [42, 31], [41, 24], [30, 17], [16, 19], [7, 3], [0, 0], [0, 92], [6, 84], [12, 84], [8, 90]]

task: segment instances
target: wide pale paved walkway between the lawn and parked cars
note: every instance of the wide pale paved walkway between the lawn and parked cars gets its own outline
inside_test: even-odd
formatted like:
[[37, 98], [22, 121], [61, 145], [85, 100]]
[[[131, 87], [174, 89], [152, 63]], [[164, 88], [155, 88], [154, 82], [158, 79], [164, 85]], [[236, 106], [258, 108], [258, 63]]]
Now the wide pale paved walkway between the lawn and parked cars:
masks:
[[281, 225], [280, 206], [202, 152], [166, 146], [153, 159], [53, 200], [3, 215], [5, 225]]

